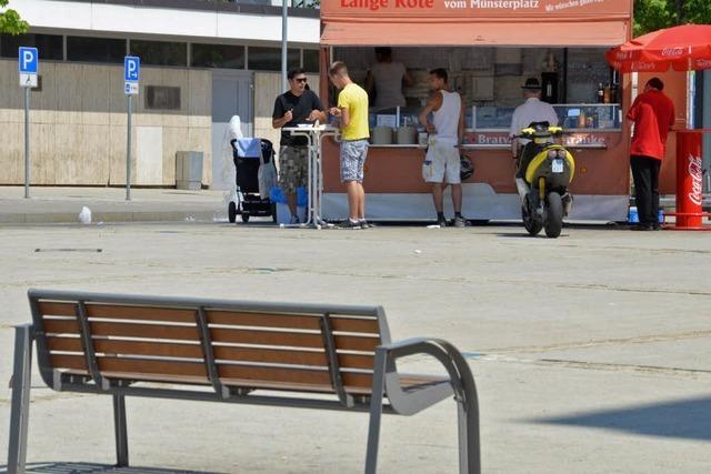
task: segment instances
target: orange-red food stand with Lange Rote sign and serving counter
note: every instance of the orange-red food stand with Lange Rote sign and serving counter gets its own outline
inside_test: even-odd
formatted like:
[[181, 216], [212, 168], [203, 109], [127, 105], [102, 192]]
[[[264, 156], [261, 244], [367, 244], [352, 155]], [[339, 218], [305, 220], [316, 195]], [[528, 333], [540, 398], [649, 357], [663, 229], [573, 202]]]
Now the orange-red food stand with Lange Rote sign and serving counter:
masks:
[[[463, 213], [475, 220], [518, 220], [509, 127], [528, 77], [543, 83], [577, 160], [571, 219], [624, 221], [629, 201], [629, 75], [614, 73], [604, 52], [631, 38], [632, 0], [322, 0], [321, 97], [336, 103], [328, 64], [344, 61], [364, 83], [373, 47], [388, 46], [415, 78], [407, 107], [370, 111], [380, 133], [365, 163], [369, 219], [432, 219], [417, 124], [429, 70], [444, 68], [465, 104], [462, 154], [474, 164], [463, 183]], [[392, 140], [382, 128], [392, 127]], [[371, 133], [371, 137], [373, 133]], [[403, 138], [400, 142], [399, 138]], [[347, 215], [338, 144], [323, 144], [323, 216]], [[445, 199], [445, 202], [449, 200]], [[451, 212], [451, 209], [450, 209]]]

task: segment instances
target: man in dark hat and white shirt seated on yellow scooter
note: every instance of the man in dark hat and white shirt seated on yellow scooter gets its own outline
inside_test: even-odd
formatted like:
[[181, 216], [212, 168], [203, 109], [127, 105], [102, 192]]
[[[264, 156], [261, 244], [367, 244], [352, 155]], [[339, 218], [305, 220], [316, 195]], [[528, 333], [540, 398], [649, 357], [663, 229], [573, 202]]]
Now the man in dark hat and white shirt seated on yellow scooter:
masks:
[[[519, 150], [524, 147], [530, 140], [514, 138], [521, 133], [522, 129], [525, 129], [531, 122], [548, 122], [551, 125], [558, 125], [558, 115], [550, 103], [541, 101], [541, 83], [537, 78], [529, 78], [525, 80], [525, 84], [521, 87], [523, 89], [523, 97], [525, 102], [517, 107], [513, 111], [513, 119], [511, 120], [511, 154], [513, 159], [519, 158]], [[517, 179], [523, 179], [525, 169], [533, 159], [533, 155], [527, 155], [523, 153], [521, 157], [521, 163], [519, 163], [519, 170], [515, 174]]]

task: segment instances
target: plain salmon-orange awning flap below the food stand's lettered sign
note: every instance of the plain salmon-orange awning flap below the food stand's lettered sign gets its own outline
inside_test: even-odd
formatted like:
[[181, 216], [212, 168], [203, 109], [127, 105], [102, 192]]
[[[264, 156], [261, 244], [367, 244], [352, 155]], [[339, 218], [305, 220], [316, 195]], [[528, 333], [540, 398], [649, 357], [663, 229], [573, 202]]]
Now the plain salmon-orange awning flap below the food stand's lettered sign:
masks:
[[627, 39], [624, 21], [328, 21], [321, 34], [321, 44], [611, 47]]

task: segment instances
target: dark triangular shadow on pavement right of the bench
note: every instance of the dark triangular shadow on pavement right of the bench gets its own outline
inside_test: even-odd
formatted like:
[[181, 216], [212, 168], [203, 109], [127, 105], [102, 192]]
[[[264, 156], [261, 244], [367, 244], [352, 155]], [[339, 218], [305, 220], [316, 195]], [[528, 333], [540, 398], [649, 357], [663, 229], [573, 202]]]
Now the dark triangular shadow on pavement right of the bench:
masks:
[[621, 431], [647, 436], [711, 441], [711, 397], [535, 418], [533, 422]]

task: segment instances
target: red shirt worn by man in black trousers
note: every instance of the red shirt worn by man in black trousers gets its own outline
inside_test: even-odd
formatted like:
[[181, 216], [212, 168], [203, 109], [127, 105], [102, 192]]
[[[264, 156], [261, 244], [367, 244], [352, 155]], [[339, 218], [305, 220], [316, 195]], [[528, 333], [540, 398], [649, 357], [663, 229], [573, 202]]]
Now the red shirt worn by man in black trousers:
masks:
[[669, 130], [675, 120], [671, 99], [652, 89], [638, 95], [627, 118], [634, 122], [630, 154], [662, 160], [667, 152]]

